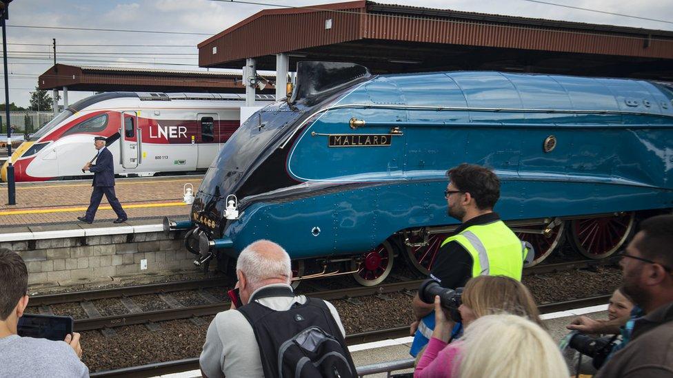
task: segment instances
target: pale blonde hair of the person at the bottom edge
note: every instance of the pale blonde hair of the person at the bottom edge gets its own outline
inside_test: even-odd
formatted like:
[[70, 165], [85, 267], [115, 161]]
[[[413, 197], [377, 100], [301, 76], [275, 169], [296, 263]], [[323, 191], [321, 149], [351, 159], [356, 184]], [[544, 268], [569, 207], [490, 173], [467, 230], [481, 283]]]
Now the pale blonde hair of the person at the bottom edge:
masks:
[[567, 378], [561, 351], [538, 324], [517, 315], [476, 319], [463, 337], [460, 378]]

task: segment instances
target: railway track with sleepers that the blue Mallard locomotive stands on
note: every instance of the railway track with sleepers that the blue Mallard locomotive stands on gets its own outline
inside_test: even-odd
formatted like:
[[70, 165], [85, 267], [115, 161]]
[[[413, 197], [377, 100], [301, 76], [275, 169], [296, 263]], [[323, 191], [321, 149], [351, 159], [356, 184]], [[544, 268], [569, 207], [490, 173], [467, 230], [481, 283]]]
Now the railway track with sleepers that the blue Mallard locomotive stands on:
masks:
[[[570, 269], [581, 269], [593, 266], [603, 266], [614, 264], [614, 260], [584, 260], [578, 262], [563, 262], [559, 264], [544, 264], [533, 266], [525, 270], [525, 275], [554, 273]], [[349, 288], [339, 288], [336, 290], [319, 290], [307, 293], [312, 297], [318, 297], [323, 300], [347, 300], [358, 304], [359, 297], [368, 297], [371, 295], [384, 295], [388, 293], [406, 292], [413, 295], [414, 291], [420, 286], [423, 280], [403, 280], [390, 284], [381, 284], [379, 286], [357, 286]], [[175, 319], [189, 319], [203, 316], [215, 315], [225, 311], [230, 307], [230, 302], [223, 302], [214, 295], [204, 291], [205, 288], [230, 287], [233, 282], [228, 278], [217, 278], [210, 280], [191, 280], [183, 282], [168, 282], [161, 284], [150, 284], [142, 286], [127, 286], [121, 288], [105, 288], [92, 291], [81, 291], [73, 293], [59, 293], [50, 295], [37, 295], [31, 297], [30, 304], [39, 306], [41, 313], [51, 313], [49, 305], [79, 302], [88, 317], [75, 319], [74, 328], [78, 332], [84, 330], [102, 330], [119, 326], [130, 326], [134, 324], [151, 324]], [[307, 285], [310, 286], [310, 283]], [[319, 286], [318, 286], [319, 287]], [[301, 286], [300, 286], [301, 288]], [[177, 291], [194, 291], [194, 295], [200, 297], [205, 304], [194, 306], [185, 306], [176, 300], [170, 293]], [[301, 291], [301, 290], [300, 290]], [[140, 306], [135, 304], [132, 297], [135, 295], [159, 295], [159, 298], [165, 302], [169, 308], [142, 311]], [[101, 311], [92, 303], [95, 300], [119, 299], [128, 313], [121, 315], [103, 316]], [[605, 299], [597, 300], [596, 303], [605, 303]], [[568, 306], [573, 306], [569, 304]], [[543, 305], [541, 308], [548, 306]], [[549, 305], [552, 306], [552, 305]], [[563, 304], [554, 304], [556, 308], [548, 312], [563, 311]]]

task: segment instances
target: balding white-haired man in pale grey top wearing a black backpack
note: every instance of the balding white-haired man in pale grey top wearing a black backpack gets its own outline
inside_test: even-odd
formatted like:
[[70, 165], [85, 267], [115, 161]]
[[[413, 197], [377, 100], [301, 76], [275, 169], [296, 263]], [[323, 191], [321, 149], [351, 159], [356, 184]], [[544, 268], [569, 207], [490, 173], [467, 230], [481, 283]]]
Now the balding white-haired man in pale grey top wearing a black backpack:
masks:
[[[290, 256], [281, 246], [269, 240], [259, 240], [243, 249], [236, 264], [236, 275], [239, 280], [237, 287], [243, 306], [237, 309], [232, 304], [230, 310], [217, 314], [210, 323], [199, 358], [203, 377], [262, 377], [264, 375], [263, 371], [268, 366], [263, 365], [268, 365], [270, 362], [268, 360], [272, 358], [263, 359], [260, 352], [263, 353], [264, 350], [269, 349], [266, 344], [269, 335], [260, 339], [263, 342], [257, 342], [258, 328], [255, 326], [253, 330], [250, 312], [245, 311], [250, 308], [251, 304], [256, 302], [270, 313], [289, 313], [298, 304], [301, 306], [307, 304], [308, 301], [315, 302], [304, 295], [294, 295], [292, 286], [290, 286], [292, 277]], [[326, 305], [323, 305], [328, 315], [326, 317], [330, 317], [329, 314], [331, 314], [334, 322], [330, 324], [336, 328], [335, 333], [339, 333], [335, 336], [343, 341], [345, 332], [336, 308], [329, 302], [319, 302]], [[299, 318], [303, 320], [303, 317]], [[310, 317], [306, 319], [310, 321]], [[270, 328], [287, 330], [288, 327], [291, 328], [292, 324], [272, 324]], [[273, 332], [274, 329], [266, 331]], [[277, 350], [275, 352], [277, 353]], [[274, 362], [275, 358], [271, 363]]]

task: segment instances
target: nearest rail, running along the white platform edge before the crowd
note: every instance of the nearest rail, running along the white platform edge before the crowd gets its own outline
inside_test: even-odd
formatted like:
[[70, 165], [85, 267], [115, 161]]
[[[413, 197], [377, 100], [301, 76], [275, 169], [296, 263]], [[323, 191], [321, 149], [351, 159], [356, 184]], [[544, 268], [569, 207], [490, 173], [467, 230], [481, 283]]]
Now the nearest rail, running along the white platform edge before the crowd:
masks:
[[[566, 311], [573, 308], [582, 308], [587, 306], [596, 306], [597, 304], [605, 304], [610, 298], [610, 295], [598, 295], [596, 297], [583, 298], [579, 300], [570, 300], [565, 302], [557, 302], [550, 304], [541, 304], [538, 306], [541, 313], [554, 313], [556, 311]], [[396, 326], [383, 330], [374, 330], [364, 333], [355, 333], [346, 336], [346, 344], [356, 345], [367, 342], [376, 342], [385, 339], [396, 339], [409, 335], [409, 326]], [[93, 372], [91, 377], [99, 378], [117, 378], [117, 377], [152, 377], [155, 375], [170, 374], [173, 372], [183, 372], [188, 370], [199, 369], [199, 358], [180, 359], [177, 361], [157, 362], [154, 364], [147, 364], [142, 366], [132, 366], [130, 368], [121, 368], [115, 370], [106, 370], [102, 372]]]

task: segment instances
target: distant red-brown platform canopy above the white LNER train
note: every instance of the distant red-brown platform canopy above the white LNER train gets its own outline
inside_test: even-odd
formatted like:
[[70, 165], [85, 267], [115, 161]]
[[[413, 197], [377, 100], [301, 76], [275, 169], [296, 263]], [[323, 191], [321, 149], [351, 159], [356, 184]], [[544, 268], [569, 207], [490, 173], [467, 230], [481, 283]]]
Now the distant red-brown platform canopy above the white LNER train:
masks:
[[[68, 87], [68, 90], [94, 92], [245, 92], [241, 74], [235, 73], [65, 64], [56, 64], [41, 74], [38, 87], [41, 90], [62, 90]], [[261, 93], [272, 91], [268, 87]]]

